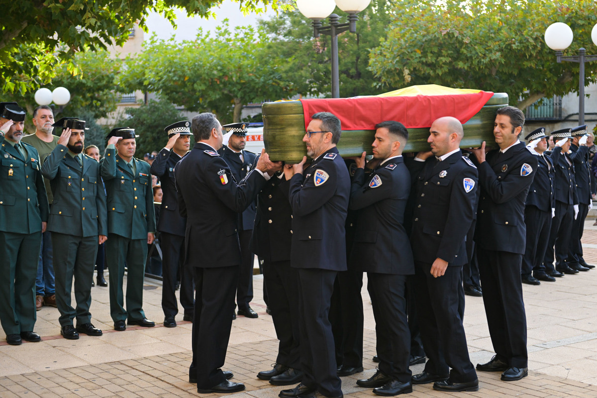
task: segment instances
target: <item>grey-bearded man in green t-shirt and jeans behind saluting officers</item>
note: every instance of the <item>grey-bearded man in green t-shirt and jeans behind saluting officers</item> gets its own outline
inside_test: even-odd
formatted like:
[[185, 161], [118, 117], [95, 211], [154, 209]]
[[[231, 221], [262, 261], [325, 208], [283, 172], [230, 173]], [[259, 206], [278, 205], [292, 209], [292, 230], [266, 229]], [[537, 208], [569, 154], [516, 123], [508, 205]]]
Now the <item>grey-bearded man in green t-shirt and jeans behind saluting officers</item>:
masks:
[[[39, 161], [44, 162], [46, 156], [56, 148], [58, 139], [53, 135], [54, 113], [51, 107], [41, 105], [33, 111], [33, 125], [35, 134], [26, 135], [22, 141], [30, 144], [39, 153]], [[40, 166], [41, 168], [41, 166]], [[44, 178], [45, 191], [48, 194], [50, 206], [54, 200], [50, 189], [50, 180]], [[54, 264], [52, 262], [52, 239], [50, 232], [42, 234], [41, 248], [39, 249], [39, 263], [37, 277], [35, 279], [35, 308], [40, 310], [44, 304], [56, 307], [56, 288], [54, 286]]]

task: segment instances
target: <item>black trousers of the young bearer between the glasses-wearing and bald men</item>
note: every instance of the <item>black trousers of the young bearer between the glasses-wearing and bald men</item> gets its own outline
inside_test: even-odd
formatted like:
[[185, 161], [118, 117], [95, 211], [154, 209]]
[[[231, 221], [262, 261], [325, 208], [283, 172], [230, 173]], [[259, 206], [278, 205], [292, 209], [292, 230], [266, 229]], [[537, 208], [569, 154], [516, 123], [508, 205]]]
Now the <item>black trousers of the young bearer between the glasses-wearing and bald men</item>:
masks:
[[407, 276], [368, 272], [367, 279], [376, 323], [379, 370], [395, 380], [408, 382], [411, 339], [405, 297]]

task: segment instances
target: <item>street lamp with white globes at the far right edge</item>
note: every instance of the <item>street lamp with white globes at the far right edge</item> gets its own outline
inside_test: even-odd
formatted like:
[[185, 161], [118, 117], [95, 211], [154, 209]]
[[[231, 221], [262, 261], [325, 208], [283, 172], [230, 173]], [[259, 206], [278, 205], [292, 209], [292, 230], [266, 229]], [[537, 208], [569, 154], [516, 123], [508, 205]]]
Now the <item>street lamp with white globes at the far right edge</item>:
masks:
[[[578, 124], [584, 124], [584, 63], [597, 61], [597, 55], [586, 55], [586, 50], [580, 48], [578, 55], [569, 55], [564, 57], [562, 51], [566, 50], [574, 39], [574, 33], [570, 26], [563, 22], [550, 24], [545, 30], [545, 44], [547, 47], [555, 50], [558, 63], [562, 61], [577, 62], [580, 64], [578, 76]], [[597, 24], [591, 31], [593, 44], [597, 45]]]

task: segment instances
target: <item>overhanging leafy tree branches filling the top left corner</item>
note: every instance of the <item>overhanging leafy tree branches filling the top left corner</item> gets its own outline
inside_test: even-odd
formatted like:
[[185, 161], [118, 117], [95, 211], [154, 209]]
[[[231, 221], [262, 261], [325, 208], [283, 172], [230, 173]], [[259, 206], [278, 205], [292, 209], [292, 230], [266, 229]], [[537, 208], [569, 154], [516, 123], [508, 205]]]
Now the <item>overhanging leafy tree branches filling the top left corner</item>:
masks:
[[[233, 0], [245, 13], [260, 13], [265, 7], [284, 10], [278, 0]], [[122, 45], [135, 23], [146, 29], [150, 11], [168, 18], [173, 26], [174, 8], [185, 8], [189, 16], [213, 16], [210, 9], [219, 0], [0, 0], [4, 18], [0, 27], [0, 90], [35, 91], [50, 81], [57, 64], [75, 70], [75, 53], [89, 47], [106, 49]]]

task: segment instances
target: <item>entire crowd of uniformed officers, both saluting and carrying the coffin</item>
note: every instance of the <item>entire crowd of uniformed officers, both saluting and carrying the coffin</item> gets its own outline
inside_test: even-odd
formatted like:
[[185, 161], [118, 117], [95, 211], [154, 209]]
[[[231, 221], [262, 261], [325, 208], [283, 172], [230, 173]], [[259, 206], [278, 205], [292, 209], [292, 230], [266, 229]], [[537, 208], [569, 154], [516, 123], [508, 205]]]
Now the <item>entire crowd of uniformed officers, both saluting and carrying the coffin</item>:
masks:
[[[251, 253], [263, 262], [279, 339], [275, 365], [257, 377], [298, 383], [282, 390], [282, 398], [340, 398], [340, 377], [363, 371], [363, 272], [379, 367], [357, 384], [395, 396], [426, 383], [439, 391], [477, 391], [476, 371], [521, 380], [528, 373], [522, 282], [553, 282], [593, 268], [580, 244], [592, 203], [586, 126], [553, 132], [550, 152], [544, 128], [527, 134], [525, 146], [524, 114], [515, 107], [497, 111], [497, 146], [488, 144], [496, 149], [486, 150], [484, 142], [466, 153], [455, 118], [434, 121], [430, 151], [413, 156], [402, 156], [404, 125], [382, 121], [369, 161], [365, 153], [341, 158], [340, 120], [316, 113], [303, 137], [310, 162], [305, 156], [294, 165], [272, 162], [264, 150], [255, 156], [241, 146], [223, 147], [223, 128], [234, 143], [246, 126], [223, 127], [211, 113], [165, 128], [168, 142], [151, 166], [134, 158], [134, 129], [113, 129], [97, 162], [82, 155], [85, 122], [63, 118], [54, 124], [63, 129], [57, 146], [43, 161], [21, 143], [24, 116], [17, 104], [0, 103], [0, 272], [10, 275], [0, 286], [10, 303], [0, 321], [10, 344], [40, 340], [33, 332], [32, 265], [45, 230], [53, 242], [61, 334], [71, 339], [101, 335], [91, 323], [90, 287], [104, 242], [114, 328], [155, 325], [142, 308], [143, 274], [147, 244], [161, 233], [164, 326], [176, 326], [182, 266], [183, 319], [193, 320], [189, 382], [199, 393], [245, 388], [221, 368], [235, 295], [239, 313], [254, 317], [252, 292], [240, 282], [250, 279], [244, 264], [252, 264]], [[151, 174], [164, 194], [157, 226]], [[54, 194], [51, 208], [42, 176]], [[256, 215], [245, 220], [250, 206]], [[463, 282], [475, 264], [496, 352], [476, 368], [463, 327]], [[475, 286], [479, 295], [481, 286]], [[416, 363], [425, 367], [412, 375]]]

